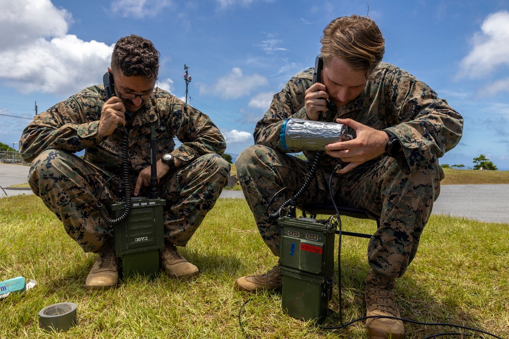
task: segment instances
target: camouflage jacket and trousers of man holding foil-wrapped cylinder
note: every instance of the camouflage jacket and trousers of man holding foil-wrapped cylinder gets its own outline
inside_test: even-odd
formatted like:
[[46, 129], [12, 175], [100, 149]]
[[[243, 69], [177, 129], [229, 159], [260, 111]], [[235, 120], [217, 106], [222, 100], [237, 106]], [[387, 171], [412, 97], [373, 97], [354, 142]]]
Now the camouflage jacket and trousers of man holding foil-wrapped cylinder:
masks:
[[[304, 183], [317, 151], [304, 150], [310, 161], [287, 155], [302, 149], [285, 149], [280, 142], [281, 125], [287, 118], [306, 119], [305, 91], [313, 84], [314, 69], [294, 76], [275, 94], [269, 110], [254, 130], [255, 145], [237, 159], [237, 172], [262, 238], [279, 256], [280, 226], [265, 217], [276, 192], [289, 187], [294, 193]], [[389, 64], [380, 64], [363, 92], [334, 114], [324, 112], [324, 121], [350, 118], [376, 130], [392, 132], [401, 143], [397, 157], [379, 156], [344, 174], [333, 174], [338, 158], [322, 157], [310, 187], [297, 206], [330, 202], [332, 175], [334, 199], [342, 206], [369, 210], [380, 215], [380, 228], [373, 234], [367, 254], [370, 266], [398, 278], [414, 258], [433, 202], [440, 194], [444, 173], [438, 158], [458, 144], [463, 118], [425, 83]], [[271, 207], [290, 198], [279, 194]], [[271, 209], [270, 212], [274, 210]]]

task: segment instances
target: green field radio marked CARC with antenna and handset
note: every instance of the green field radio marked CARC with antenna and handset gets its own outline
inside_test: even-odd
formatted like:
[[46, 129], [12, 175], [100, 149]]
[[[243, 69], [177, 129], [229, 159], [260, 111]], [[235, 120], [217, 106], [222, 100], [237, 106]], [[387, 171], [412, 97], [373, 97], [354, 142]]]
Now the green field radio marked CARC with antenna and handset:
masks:
[[[113, 95], [110, 73], [103, 77], [106, 97]], [[128, 112], [126, 112], [128, 114]], [[148, 197], [132, 197], [128, 168], [128, 133], [124, 128], [122, 142], [122, 174], [119, 180], [119, 199], [106, 207], [98, 202], [101, 217], [108, 223], [113, 235], [114, 250], [123, 277], [134, 274], [154, 277], [160, 270], [160, 251], [164, 249], [163, 206], [166, 200], [158, 198], [157, 148], [155, 127], [151, 127], [151, 182]]]

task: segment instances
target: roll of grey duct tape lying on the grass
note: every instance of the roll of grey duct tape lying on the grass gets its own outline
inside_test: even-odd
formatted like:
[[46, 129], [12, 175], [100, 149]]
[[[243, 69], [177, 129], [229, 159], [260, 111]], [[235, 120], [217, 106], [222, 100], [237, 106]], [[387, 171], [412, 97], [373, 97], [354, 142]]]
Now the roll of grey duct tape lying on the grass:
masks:
[[46, 330], [67, 331], [76, 324], [76, 304], [62, 302], [39, 311], [39, 326]]

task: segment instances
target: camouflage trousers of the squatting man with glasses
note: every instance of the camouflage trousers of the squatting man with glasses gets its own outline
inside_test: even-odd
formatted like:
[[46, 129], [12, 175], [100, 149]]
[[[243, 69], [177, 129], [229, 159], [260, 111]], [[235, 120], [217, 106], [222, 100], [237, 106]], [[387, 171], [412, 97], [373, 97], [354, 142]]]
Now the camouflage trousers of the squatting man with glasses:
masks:
[[[229, 173], [227, 161], [208, 154], [160, 179], [160, 192], [166, 191], [161, 196], [166, 199], [166, 241], [187, 244], [228, 183]], [[105, 205], [118, 198], [118, 181], [106, 183], [112, 176], [72, 153], [50, 149], [32, 162], [29, 184], [85, 252], [98, 252], [112, 243], [109, 227], [96, 208], [99, 195]], [[133, 183], [136, 178], [131, 176]]]

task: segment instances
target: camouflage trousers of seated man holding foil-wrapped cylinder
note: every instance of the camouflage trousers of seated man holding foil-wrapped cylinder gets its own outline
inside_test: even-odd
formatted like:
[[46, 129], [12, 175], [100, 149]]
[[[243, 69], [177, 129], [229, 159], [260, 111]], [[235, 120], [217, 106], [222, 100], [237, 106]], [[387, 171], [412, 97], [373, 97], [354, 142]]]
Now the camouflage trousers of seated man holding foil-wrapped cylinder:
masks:
[[[345, 174], [334, 174], [333, 195], [341, 206], [369, 210], [380, 215], [380, 227], [371, 237], [367, 258], [377, 272], [398, 278], [415, 257], [419, 238], [440, 193], [443, 171], [438, 163], [409, 175], [394, 159], [382, 157], [370, 166], [358, 166]], [[289, 187], [297, 192], [311, 164], [272, 148], [254, 145], [237, 158], [237, 174], [260, 234], [272, 253], [279, 256], [281, 229], [265, 217], [267, 205], [276, 192]], [[330, 203], [328, 182], [332, 168], [319, 167], [310, 186], [297, 200], [306, 204]], [[271, 206], [277, 209], [290, 194], [279, 194]], [[269, 210], [269, 213], [274, 212]]]

